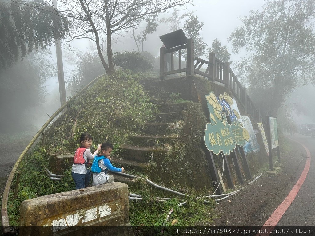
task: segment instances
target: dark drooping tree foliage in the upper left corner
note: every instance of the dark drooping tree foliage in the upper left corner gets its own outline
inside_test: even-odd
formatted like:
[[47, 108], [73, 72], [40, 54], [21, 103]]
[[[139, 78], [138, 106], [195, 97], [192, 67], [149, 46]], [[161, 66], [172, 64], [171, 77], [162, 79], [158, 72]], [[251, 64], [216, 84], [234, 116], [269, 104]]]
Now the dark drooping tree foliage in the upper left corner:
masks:
[[[36, 7], [40, 6], [40, 8]], [[0, 2], [0, 70], [62, 38], [69, 22], [43, 0]]]

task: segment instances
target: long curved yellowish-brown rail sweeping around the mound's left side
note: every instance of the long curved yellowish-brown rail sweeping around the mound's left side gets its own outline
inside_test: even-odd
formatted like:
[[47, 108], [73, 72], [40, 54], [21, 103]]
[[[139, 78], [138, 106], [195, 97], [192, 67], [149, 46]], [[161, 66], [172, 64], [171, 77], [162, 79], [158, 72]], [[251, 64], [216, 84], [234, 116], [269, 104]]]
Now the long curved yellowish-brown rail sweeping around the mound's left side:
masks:
[[9, 217], [8, 217], [8, 198], [9, 198], [9, 191], [11, 188], [11, 184], [13, 181], [14, 174], [17, 170], [17, 168], [20, 165], [21, 160], [24, 158], [28, 150], [31, 148], [31, 146], [34, 144], [34, 142], [37, 140], [39, 135], [44, 131], [44, 129], [50, 124], [50, 122], [71, 102], [74, 98], [77, 98], [80, 93], [82, 93], [84, 90], [86, 90], [91, 84], [93, 84], [95, 81], [97, 81], [100, 77], [107, 75], [107, 73], [96, 77], [91, 82], [89, 82], [83, 89], [81, 89], [76, 95], [74, 95], [71, 99], [69, 99], [65, 104], [63, 104], [50, 118], [46, 123], [43, 125], [42, 128], [35, 134], [35, 136], [32, 138], [31, 142], [26, 146], [18, 160], [15, 162], [10, 175], [8, 177], [7, 183], [4, 188], [3, 192], [3, 198], [2, 198], [2, 205], [1, 205], [1, 227], [3, 229], [3, 233], [9, 233], [10, 232], [10, 225], [9, 225]]

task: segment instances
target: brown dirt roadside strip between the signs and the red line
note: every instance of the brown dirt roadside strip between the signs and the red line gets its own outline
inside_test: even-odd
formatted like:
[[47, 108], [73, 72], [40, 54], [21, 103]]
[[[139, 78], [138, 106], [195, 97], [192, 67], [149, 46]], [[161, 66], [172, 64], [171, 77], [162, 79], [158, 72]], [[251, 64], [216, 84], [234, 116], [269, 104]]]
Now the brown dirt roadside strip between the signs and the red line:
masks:
[[300, 177], [306, 154], [299, 144], [288, 140], [292, 151], [281, 152], [281, 169], [278, 173], [263, 175], [247, 185], [239, 194], [220, 201], [216, 211], [219, 217], [214, 226], [262, 226], [273, 210], [285, 198]]

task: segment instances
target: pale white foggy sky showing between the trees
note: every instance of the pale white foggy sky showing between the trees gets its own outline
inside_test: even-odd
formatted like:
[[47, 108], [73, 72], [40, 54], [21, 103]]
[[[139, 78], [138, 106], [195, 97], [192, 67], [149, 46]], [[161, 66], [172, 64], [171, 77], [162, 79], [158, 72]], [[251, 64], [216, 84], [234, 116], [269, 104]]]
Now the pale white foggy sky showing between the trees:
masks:
[[[211, 46], [211, 42], [217, 38], [221, 41], [222, 45], [227, 45], [227, 48], [231, 55], [231, 61], [239, 61], [246, 54], [241, 51], [238, 54], [232, 53], [232, 44], [227, 41], [227, 37], [230, 36], [232, 31], [238, 26], [241, 25], [241, 21], [238, 17], [249, 15], [250, 10], [260, 10], [261, 5], [264, 4], [263, 0], [194, 0], [194, 6], [187, 6], [188, 9], [180, 9], [180, 14], [185, 12], [194, 12], [198, 16], [199, 22], [203, 22], [203, 30], [200, 32], [203, 37], [203, 41], [207, 43], [208, 47]], [[170, 17], [173, 13], [173, 10], [170, 10], [168, 13], [159, 15], [159, 19]], [[184, 20], [181, 22], [181, 26], [184, 25]], [[140, 25], [141, 28], [141, 25]], [[139, 28], [139, 31], [141, 30]], [[169, 27], [166, 24], [159, 23], [159, 27], [156, 32], [148, 35], [148, 39], [143, 44], [144, 51], [150, 52], [154, 56], [159, 56], [159, 48], [162, 46], [162, 42], [159, 36], [169, 33]], [[123, 35], [115, 38], [112, 43], [113, 51], [137, 51], [135, 42], [133, 38], [127, 38], [123, 36], [128, 36], [126, 32]], [[130, 36], [130, 34], [129, 34]], [[66, 55], [71, 53], [78, 52], [88, 52], [94, 48], [94, 44], [87, 40], [74, 40], [71, 42], [71, 49], [68, 45], [62, 43], [62, 53], [63, 53], [63, 63], [65, 71], [65, 79], [70, 75], [71, 70], [74, 70], [74, 65], [69, 64], [66, 61]], [[53, 64], [56, 65], [56, 55], [55, 48], [52, 45], [49, 48], [51, 55], [46, 58]], [[231, 66], [232, 67], [232, 66]], [[233, 67], [232, 67], [233, 69]], [[242, 82], [242, 79], [239, 78]], [[60, 98], [59, 98], [59, 85], [58, 77], [53, 76], [44, 82], [43, 87], [46, 90], [46, 95], [43, 98], [40, 105], [32, 107], [27, 110], [26, 114], [33, 117], [29, 119], [29, 124], [23, 124], [24, 126], [33, 127], [33, 129], [39, 129], [47, 121], [50, 115], [52, 115], [60, 107]], [[314, 88], [312, 85], [307, 87], [299, 88], [289, 99], [288, 102], [307, 104], [307, 101], [313, 100]], [[307, 93], [306, 93], [307, 92]], [[71, 94], [67, 91], [67, 99]], [[12, 104], [11, 101], [7, 100], [2, 95], [2, 101], [10, 104], [10, 107], [14, 107], [15, 104]], [[307, 105], [306, 105], [307, 107]], [[9, 108], [8, 108], [9, 109]], [[5, 112], [5, 111], [2, 111]], [[315, 122], [312, 120], [315, 115], [313, 107], [308, 107], [306, 114], [301, 113], [300, 115], [295, 114], [295, 118], [299, 120], [298, 123], [304, 122]], [[34, 128], [35, 127], [35, 128]], [[27, 130], [27, 128], [26, 128]], [[18, 131], [18, 130], [16, 130]]]

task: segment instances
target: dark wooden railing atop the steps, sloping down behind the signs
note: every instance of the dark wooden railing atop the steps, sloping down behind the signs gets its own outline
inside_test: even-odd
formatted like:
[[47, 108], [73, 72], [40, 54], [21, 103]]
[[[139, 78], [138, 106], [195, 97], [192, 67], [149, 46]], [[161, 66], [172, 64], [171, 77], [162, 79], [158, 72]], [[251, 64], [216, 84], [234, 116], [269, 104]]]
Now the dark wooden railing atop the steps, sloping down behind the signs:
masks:
[[[182, 53], [181, 50], [187, 49], [186, 53], [186, 68], [181, 67]], [[178, 52], [178, 69], [174, 70], [174, 53]], [[167, 53], [170, 57], [167, 59]], [[167, 70], [169, 63], [169, 70]], [[200, 69], [206, 65], [205, 72]], [[186, 72], [187, 76], [195, 74], [207, 78], [209, 81], [216, 82], [228, 88], [239, 104], [242, 105], [245, 113], [248, 114], [255, 122], [263, 122], [266, 127], [264, 117], [261, 115], [260, 109], [255, 108], [254, 103], [247, 95], [246, 87], [238, 81], [234, 72], [230, 68], [229, 62], [223, 62], [215, 57], [215, 53], [209, 53], [209, 60], [204, 60], [194, 57], [194, 41], [187, 39], [187, 44], [180, 45], [174, 48], [160, 48], [160, 77], [165, 79], [165, 76]]]

